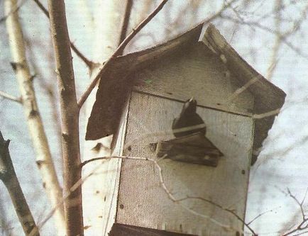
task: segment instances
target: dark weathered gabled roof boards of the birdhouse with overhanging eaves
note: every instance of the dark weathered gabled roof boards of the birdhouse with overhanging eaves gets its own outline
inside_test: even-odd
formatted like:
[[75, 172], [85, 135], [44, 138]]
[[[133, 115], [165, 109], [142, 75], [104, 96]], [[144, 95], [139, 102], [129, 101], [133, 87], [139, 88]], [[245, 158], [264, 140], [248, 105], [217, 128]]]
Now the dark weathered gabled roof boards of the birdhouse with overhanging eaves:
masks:
[[[106, 75], [99, 82], [96, 101], [87, 124], [86, 140], [96, 140], [117, 133], [123, 110], [128, 103], [129, 94], [136, 83], [136, 73], [143, 68], [150, 67], [151, 64], [158, 62], [166, 55], [185, 50], [191, 45], [202, 44], [203, 48], [205, 47], [204, 50], [211, 50], [212, 54], [225, 64], [226, 68], [233, 74], [232, 78], [236, 80], [238, 89], [233, 92], [229, 102], [236, 99], [244, 91], [253, 94], [252, 111], [241, 115], [251, 116], [255, 119], [253, 150], [258, 150], [268, 135], [268, 130], [272, 127], [275, 116], [285, 102], [285, 93], [268, 82], [243, 60], [214, 25], [209, 24], [205, 33], [202, 33], [204, 27], [206, 26], [203, 23], [199, 24], [187, 33], [166, 43], [114, 58]], [[167, 67], [168, 64], [165, 66]], [[221, 108], [221, 106], [210, 105], [209, 108], [233, 112], [228, 106]]]

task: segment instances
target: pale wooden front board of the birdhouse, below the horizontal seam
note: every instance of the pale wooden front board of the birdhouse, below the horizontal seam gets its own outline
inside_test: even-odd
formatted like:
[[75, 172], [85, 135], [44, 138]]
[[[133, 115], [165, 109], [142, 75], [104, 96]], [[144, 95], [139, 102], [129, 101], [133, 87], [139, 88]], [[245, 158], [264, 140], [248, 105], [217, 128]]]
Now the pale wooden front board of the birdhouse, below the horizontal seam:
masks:
[[[172, 120], [181, 109], [180, 102], [133, 92], [123, 154], [155, 158], [149, 144], [173, 137]], [[158, 163], [165, 185], [175, 198], [207, 198], [244, 218], [253, 120], [207, 108], [198, 108], [197, 113], [207, 125], [207, 137], [224, 157], [218, 167], [163, 159]], [[191, 235], [236, 235], [243, 227], [231, 213], [211, 203], [172, 202], [160, 185], [158, 169], [151, 162], [132, 159], [122, 162], [116, 223]]]

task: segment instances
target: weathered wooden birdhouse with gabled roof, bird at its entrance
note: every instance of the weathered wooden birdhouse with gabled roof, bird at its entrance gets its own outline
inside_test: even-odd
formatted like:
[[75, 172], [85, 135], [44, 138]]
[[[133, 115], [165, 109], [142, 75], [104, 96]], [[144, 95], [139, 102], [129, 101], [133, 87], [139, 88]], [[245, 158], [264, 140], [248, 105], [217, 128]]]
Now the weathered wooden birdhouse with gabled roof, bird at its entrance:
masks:
[[115, 58], [86, 135], [113, 134], [121, 154], [101, 179], [105, 232], [242, 235], [249, 168], [284, 101], [213, 25]]

